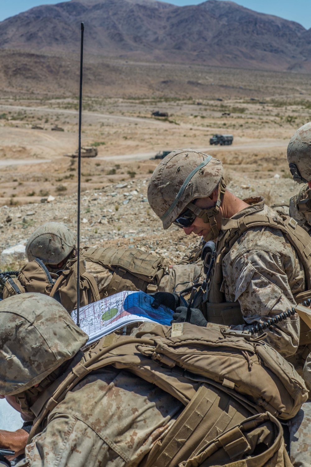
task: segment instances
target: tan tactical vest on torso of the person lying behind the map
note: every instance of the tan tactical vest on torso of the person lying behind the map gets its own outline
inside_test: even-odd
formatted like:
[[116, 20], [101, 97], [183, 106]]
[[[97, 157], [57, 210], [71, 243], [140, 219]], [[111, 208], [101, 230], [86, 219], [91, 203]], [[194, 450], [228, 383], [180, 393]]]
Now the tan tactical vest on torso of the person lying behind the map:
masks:
[[162, 257], [150, 255], [138, 248], [87, 248], [81, 257], [113, 272], [106, 297], [122, 290], [156, 292], [161, 278], [168, 270]]

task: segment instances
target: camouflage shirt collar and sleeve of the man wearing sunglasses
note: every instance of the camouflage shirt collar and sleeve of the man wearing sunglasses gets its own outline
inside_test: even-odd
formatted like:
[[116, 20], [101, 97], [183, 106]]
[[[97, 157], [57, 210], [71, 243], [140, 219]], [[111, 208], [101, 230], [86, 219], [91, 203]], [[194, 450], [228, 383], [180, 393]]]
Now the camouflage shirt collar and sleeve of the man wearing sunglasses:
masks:
[[[278, 216], [260, 198], [258, 203], [236, 213], [232, 219], [240, 219], [251, 212]], [[293, 295], [304, 291], [304, 269], [297, 253], [283, 233], [272, 227], [252, 227], [242, 234], [224, 256], [222, 273], [224, 301], [238, 301], [247, 323], [239, 328], [291, 309], [296, 305]], [[297, 350], [299, 330], [296, 314], [267, 329], [266, 340], [288, 357]]]

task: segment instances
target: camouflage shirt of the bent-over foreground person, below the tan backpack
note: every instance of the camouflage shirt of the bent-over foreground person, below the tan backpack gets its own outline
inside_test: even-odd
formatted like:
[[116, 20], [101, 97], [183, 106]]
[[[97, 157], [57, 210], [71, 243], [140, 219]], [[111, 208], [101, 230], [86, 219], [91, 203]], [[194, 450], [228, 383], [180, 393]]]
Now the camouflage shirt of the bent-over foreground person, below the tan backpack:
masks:
[[[81, 355], [77, 357], [67, 374]], [[40, 402], [32, 407], [35, 413], [41, 409]], [[138, 466], [182, 407], [154, 384], [125, 370], [106, 367], [67, 393], [49, 414], [43, 431], [26, 447], [26, 459], [17, 465]]]

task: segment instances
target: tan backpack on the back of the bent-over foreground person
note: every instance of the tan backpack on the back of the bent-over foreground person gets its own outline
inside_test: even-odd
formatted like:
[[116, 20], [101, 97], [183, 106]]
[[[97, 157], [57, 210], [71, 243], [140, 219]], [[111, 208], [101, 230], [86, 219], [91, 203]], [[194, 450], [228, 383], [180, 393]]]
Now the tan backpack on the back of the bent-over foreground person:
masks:
[[[263, 334], [261, 338], [252, 339], [249, 334], [221, 332], [220, 328], [189, 323], [174, 323], [173, 326], [144, 323], [130, 336], [110, 334], [86, 352], [67, 378], [60, 382], [35, 420], [30, 439], [49, 411], [62, 401], [68, 391], [91, 371], [107, 365], [128, 369], [145, 381], [152, 382], [189, 407], [190, 412], [191, 407], [205, 410], [200, 418], [193, 417], [194, 426], [191, 425], [187, 438], [184, 438], [185, 446], [214, 403], [215, 391], [227, 393], [253, 413], [269, 410], [283, 420], [292, 418], [308, 399], [308, 391], [294, 367], [262, 340], [265, 336]], [[209, 386], [214, 387], [214, 391], [210, 391]], [[195, 397], [198, 397], [199, 388], [205, 388], [200, 389], [200, 394], [203, 391], [203, 399], [211, 402], [198, 403]], [[219, 410], [219, 403], [216, 406]], [[220, 407], [222, 413], [225, 408]], [[226, 429], [233, 415], [226, 414], [222, 419], [221, 431]], [[187, 417], [190, 423], [192, 413], [188, 413]], [[185, 420], [182, 421], [184, 425]], [[212, 434], [213, 431], [210, 436]], [[191, 439], [187, 444], [188, 449], [189, 446], [192, 449]], [[176, 444], [175, 447], [180, 449]]]

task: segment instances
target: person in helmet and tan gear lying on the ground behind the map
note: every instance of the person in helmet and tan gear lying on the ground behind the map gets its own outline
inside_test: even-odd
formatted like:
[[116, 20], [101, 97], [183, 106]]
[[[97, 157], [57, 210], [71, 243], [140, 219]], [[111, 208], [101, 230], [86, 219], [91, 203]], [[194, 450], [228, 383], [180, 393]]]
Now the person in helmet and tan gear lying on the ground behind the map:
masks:
[[[48, 222], [31, 234], [26, 255], [28, 264], [17, 279], [6, 283], [3, 297], [39, 292], [55, 297], [68, 311], [75, 309], [76, 234], [64, 224]], [[178, 292], [199, 282], [201, 271], [200, 248], [194, 248], [173, 267], [163, 257], [137, 248], [84, 248], [80, 255], [80, 305], [122, 290]]]

